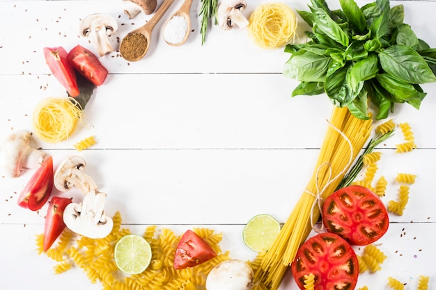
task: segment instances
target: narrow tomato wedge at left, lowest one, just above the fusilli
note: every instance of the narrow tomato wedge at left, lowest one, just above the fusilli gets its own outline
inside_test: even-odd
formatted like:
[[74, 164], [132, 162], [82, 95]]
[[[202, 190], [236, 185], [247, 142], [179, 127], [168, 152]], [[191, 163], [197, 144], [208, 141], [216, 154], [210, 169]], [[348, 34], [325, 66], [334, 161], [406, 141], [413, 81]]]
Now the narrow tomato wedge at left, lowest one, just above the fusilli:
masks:
[[42, 247], [44, 251], [48, 250], [53, 245], [54, 241], [61, 235], [63, 229], [65, 229], [66, 225], [63, 222], [63, 210], [71, 202], [71, 198], [59, 198], [58, 196], [50, 200], [47, 216], [45, 216], [44, 243]]

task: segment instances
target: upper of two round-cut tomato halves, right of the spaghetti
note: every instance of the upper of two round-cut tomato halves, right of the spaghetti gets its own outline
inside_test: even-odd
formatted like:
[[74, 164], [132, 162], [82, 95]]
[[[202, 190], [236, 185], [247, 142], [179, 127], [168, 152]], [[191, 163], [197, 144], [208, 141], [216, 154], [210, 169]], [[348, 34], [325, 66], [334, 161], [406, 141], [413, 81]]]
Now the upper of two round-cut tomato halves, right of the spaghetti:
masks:
[[387, 209], [380, 198], [364, 186], [348, 186], [330, 195], [322, 206], [327, 232], [342, 236], [351, 245], [368, 245], [389, 227]]

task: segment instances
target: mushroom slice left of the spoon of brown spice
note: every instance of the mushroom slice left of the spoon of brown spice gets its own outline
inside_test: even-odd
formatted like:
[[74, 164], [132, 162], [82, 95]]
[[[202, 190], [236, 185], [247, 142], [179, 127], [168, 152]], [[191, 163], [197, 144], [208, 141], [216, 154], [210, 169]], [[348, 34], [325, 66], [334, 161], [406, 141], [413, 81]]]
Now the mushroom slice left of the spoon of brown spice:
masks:
[[81, 19], [79, 33], [85, 37], [91, 37], [93, 45], [100, 56], [114, 51], [109, 36], [118, 31], [116, 19], [108, 14], [95, 13]]

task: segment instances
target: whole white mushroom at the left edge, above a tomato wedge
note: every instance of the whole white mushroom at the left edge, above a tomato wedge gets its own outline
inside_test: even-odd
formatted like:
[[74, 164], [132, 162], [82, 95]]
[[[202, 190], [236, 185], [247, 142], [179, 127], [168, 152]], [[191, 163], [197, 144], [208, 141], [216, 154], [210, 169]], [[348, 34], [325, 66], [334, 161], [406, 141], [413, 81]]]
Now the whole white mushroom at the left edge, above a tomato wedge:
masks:
[[0, 171], [8, 177], [19, 177], [23, 168], [38, 168], [44, 161], [45, 152], [31, 147], [32, 134], [17, 131], [10, 134], [0, 145]]

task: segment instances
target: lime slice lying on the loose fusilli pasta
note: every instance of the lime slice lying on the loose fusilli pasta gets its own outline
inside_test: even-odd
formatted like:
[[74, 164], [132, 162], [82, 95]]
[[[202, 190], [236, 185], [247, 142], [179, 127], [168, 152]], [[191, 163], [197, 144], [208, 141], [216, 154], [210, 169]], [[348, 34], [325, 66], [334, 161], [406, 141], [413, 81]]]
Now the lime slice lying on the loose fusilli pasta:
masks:
[[128, 234], [115, 245], [116, 266], [126, 274], [142, 273], [151, 261], [150, 244], [142, 236]]

